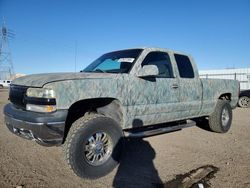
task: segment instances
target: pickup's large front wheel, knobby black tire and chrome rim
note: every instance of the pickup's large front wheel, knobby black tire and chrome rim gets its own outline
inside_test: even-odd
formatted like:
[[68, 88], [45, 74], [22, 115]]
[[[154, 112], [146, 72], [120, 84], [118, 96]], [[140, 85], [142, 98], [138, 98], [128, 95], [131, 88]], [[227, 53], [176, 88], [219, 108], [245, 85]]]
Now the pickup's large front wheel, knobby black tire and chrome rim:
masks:
[[[102, 144], [96, 144], [98, 143], [97, 137], [100, 138], [100, 134], [106, 134], [104, 140], [108, 139], [106, 144], [108, 143], [107, 145], [109, 145], [112, 143], [111, 146], [105, 146], [105, 141], [102, 141]], [[93, 139], [95, 139], [95, 142], [92, 142]], [[101, 140], [103, 140], [103, 138], [101, 138]], [[122, 142], [123, 133], [116, 121], [102, 115], [90, 114], [79, 118], [72, 124], [63, 145], [63, 150], [67, 163], [77, 176], [96, 179], [111, 172], [119, 163], [123, 145]], [[102, 150], [100, 150], [100, 145], [103, 146]], [[88, 150], [87, 148], [91, 149]], [[105, 157], [103, 158], [105, 160], [103, 159], [100, 162], [98, 160], [94, 161], [94, 158], [91, 158], [93, 159], [92, 162], [91, 159], [88, 159], [93, 153], [100, 153], [100, 151], [105, 153], [104, 148], [111, 148], [106, 149], [106, 151], [109, 150], [109, 152], [107, 151], [106, 154], [104, 154]]]

